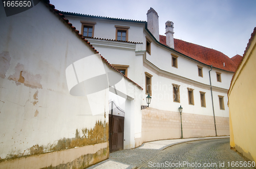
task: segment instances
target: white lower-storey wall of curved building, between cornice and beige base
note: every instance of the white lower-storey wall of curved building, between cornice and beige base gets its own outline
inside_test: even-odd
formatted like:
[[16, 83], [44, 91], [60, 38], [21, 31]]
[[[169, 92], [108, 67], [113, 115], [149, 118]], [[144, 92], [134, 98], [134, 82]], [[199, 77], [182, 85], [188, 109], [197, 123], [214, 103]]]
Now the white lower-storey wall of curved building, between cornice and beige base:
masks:
[[[183, 112], [197, 115], [213, 116], [211, 92], [208, 89], [200, 88], [196, 86], [188, 85], [187, 83], [177, 80], [169, 79], [166, 77], [158, 76], [153, 71], [144, 67], [145, 72], [153, 75], [152, 77], [152, 100], [150, 107], [167, 110], [167, 111], [179, 111], [178, 108], [181, 105]], [[144, 78], [145, 79], [145, 78]], [[145, 83], [145, 80], [143, 80]], [[173, 101], [173, 85], [180, 85], [180, 103]], [[145, 86], [145, 85], [144, 85]], [[143, 87], [144, 87], [143, 86]], [[188, 104], [188, 92], [187, 88], [194, 89], [194, 105]], [[201, 107], [200, 91], [205, 92], [206, 107]], [[143, 90], [144, 98], [146, 97], [145, 90]], [[225, 93], [213, 92], [215, 115], [219, 117], [228, 117], [228, 107]], [[220, 110], [218, 95], [225, 96], [225, 110]], [[146, 100], [143, 100], [143, 105], [146, 105]]]

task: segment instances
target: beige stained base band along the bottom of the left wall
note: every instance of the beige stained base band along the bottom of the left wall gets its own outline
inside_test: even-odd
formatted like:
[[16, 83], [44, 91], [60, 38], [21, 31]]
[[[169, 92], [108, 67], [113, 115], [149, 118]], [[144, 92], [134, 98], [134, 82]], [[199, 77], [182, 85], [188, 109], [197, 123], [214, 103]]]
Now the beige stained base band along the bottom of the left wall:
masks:
[[77, 147], [38, 154], [34, 156], [21, 157], [0, 163], [1, 169], [9, 168], [84, 168], [109, 157], [109, 144], [100, 143], [90, 146]]

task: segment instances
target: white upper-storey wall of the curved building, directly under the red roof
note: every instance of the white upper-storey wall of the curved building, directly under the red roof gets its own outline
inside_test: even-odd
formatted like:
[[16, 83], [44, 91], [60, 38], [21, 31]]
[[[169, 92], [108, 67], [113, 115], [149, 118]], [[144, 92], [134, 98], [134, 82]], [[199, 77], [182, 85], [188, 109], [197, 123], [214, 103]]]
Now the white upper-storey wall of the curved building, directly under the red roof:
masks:
[[[145, 38], [143, 43], [144, 44], [146, 43]], [[175, 55], [178, 56], [178, 59], [177, 59], [178, 68], [172, 67], [171, 53], [174, 53]], [[151, 43], [151, 54], [146, 53], [146, 59], [161, 70], [174, 73], [182, 77], [195, 80], [207, 85], [209, 85], [210, 83], [209, 82], [209, 70], [210, 70], [209, 66], [206, 66], [196, 61], [193, 61], [191, 59], [182, 57], [182, 55], [180, 55], [179, 53], [160, 47], [154, 42]], [[203, 67], [203, 77], [198, 76], [198, 66]], [[221, 74], [222, 82], [217, 82], [216, 71], [222, 73]], [[231, 72], [226, 72], [226, 71], [213, 68], [211, 71], [212, 86], [229, 89], [232, 75], [233, 73]]]

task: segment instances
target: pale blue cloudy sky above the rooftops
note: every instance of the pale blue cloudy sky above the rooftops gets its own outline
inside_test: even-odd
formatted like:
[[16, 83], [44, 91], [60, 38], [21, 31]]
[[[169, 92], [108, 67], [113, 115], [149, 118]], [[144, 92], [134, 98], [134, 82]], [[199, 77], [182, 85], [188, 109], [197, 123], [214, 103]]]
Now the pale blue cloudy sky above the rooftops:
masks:
[[159, 16], [159, 33], [174, 22], [174, 38], [219, 50], [229, 58], [243, 55], [256, 26], [256, 0], [87, 1], [50, 0], [60, 11], [145, 20], [150, 7]]

